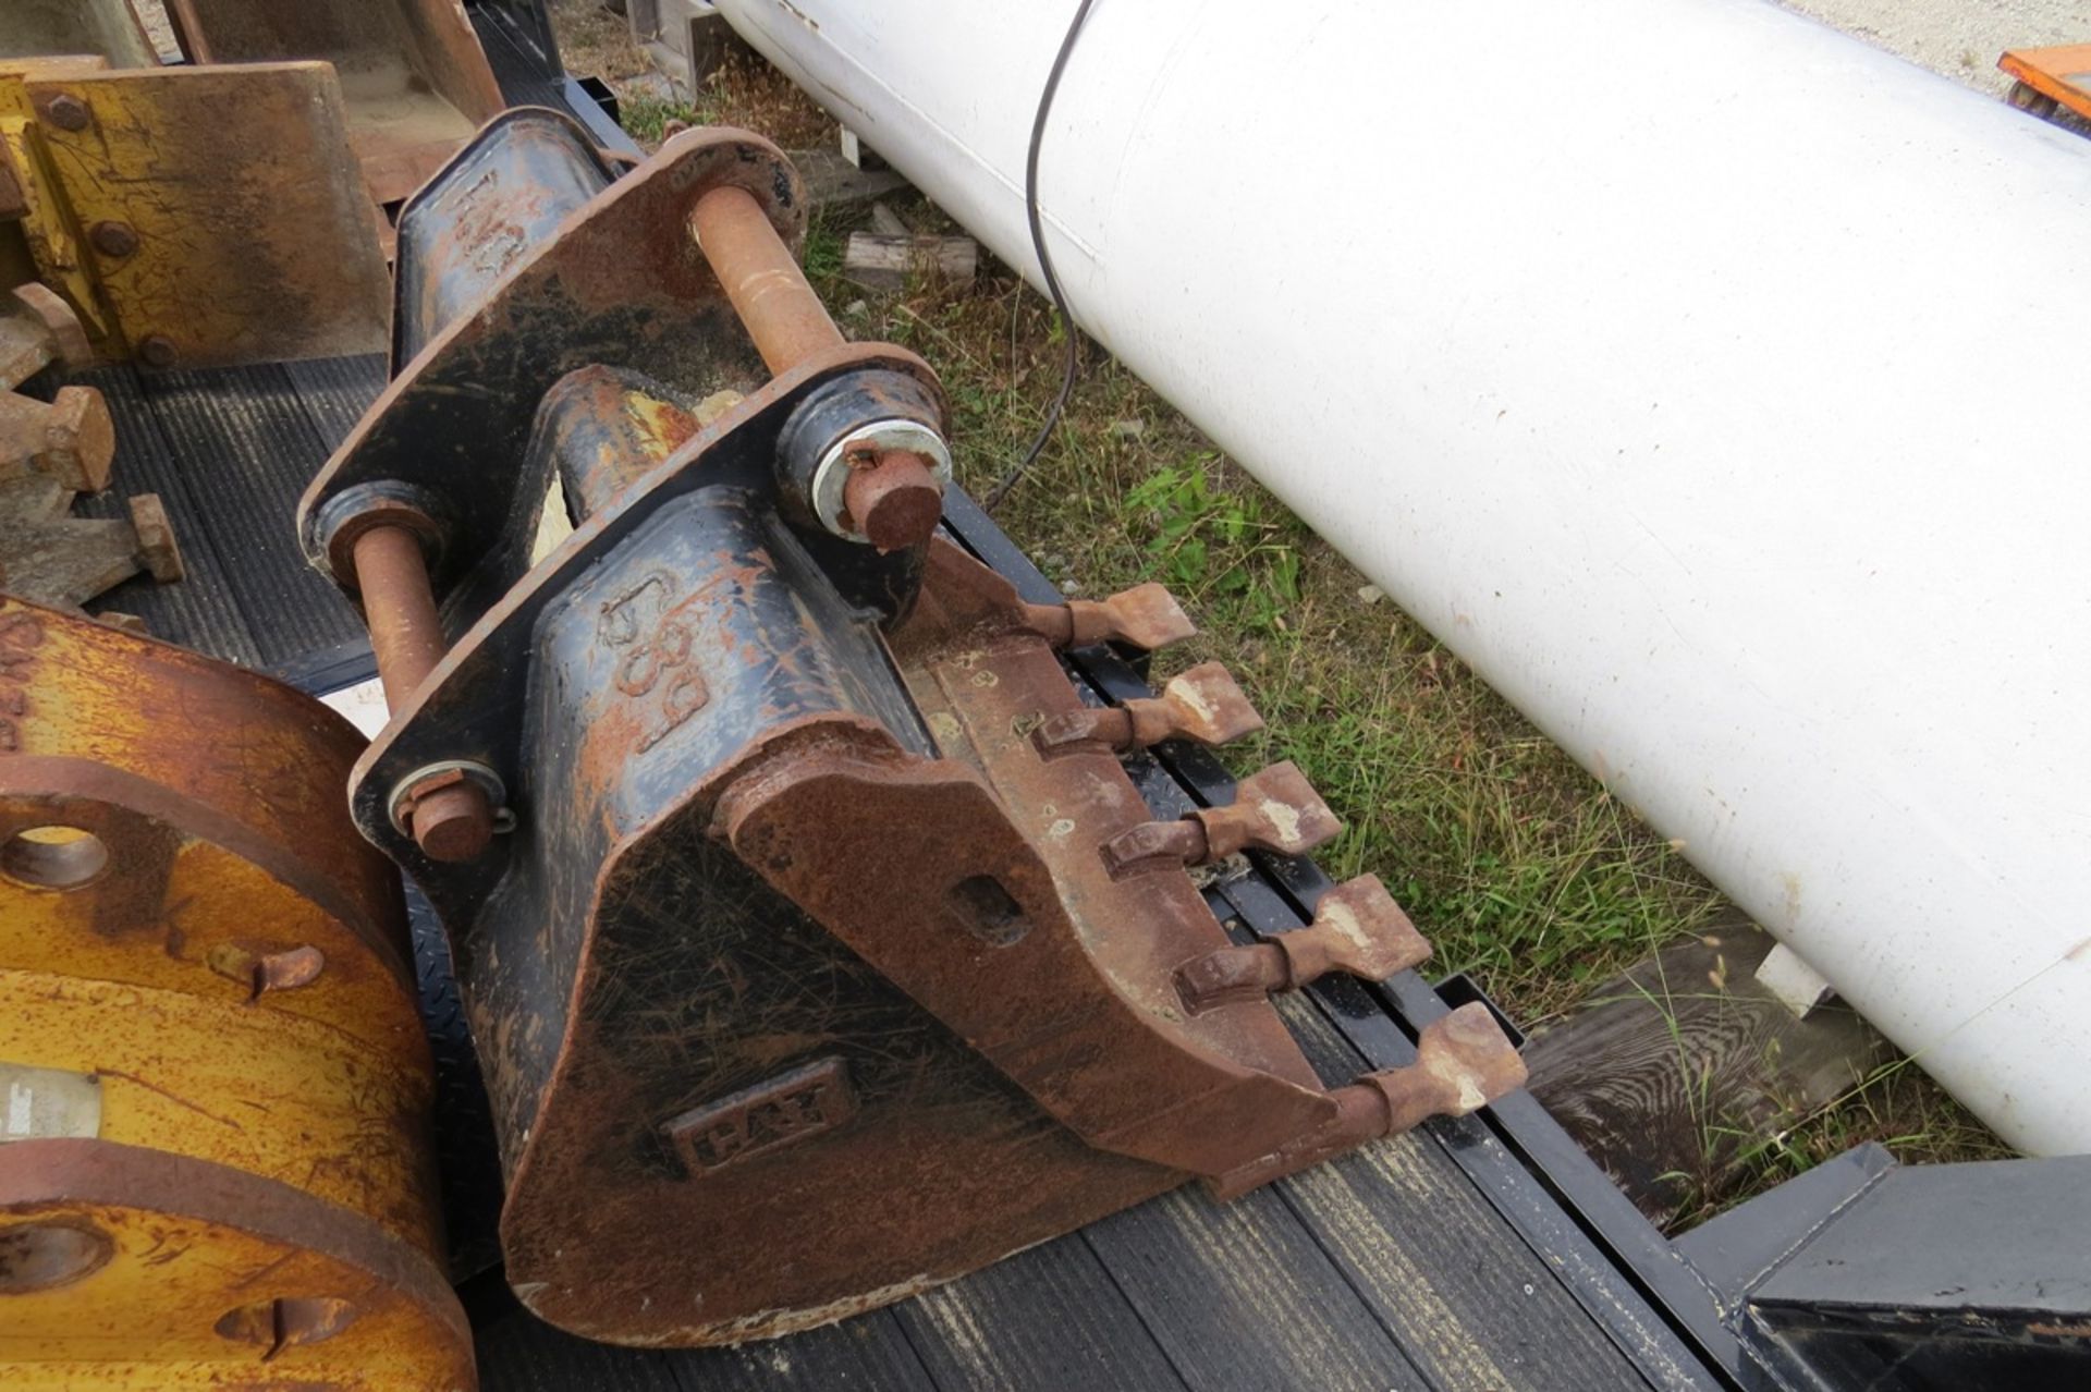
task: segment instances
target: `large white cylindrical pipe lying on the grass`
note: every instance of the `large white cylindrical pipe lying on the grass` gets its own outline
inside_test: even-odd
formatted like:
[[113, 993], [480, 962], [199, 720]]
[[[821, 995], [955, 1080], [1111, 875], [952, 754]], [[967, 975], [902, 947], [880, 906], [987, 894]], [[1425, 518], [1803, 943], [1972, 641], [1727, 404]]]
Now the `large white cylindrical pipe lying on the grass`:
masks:
[[[1035, 272], [1073, 0], [721, 0]], [[2091, 144], [1763, 0], [1098, 0], [1075, 318], [2012, 1143], [2091, 1152]]]

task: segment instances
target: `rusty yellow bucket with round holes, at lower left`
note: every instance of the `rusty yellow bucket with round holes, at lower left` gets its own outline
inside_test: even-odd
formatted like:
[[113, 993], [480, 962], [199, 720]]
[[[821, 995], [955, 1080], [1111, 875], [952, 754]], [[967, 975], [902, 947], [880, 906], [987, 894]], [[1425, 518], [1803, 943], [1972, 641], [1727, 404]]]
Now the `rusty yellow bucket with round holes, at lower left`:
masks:
[[360, 748], [0, 596], [0, 1384], [473, 1388]]

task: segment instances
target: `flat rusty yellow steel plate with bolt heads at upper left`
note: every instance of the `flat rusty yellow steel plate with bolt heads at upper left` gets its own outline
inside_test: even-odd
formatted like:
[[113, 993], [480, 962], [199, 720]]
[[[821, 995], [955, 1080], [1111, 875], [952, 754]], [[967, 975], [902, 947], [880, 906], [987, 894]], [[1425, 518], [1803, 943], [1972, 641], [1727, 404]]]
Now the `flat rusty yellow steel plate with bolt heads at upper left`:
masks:
[[0, 59], [0, 272], [65, 297], [109, 359], [385, 347], [378, 213], [326, 63]]

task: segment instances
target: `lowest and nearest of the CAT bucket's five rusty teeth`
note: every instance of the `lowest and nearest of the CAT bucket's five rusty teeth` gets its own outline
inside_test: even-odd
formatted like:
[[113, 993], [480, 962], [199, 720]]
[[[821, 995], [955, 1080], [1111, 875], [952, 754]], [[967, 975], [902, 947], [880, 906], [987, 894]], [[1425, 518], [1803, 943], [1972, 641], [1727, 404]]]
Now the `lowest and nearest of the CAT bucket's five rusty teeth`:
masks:
[[1215, 1198], [1232, 1200], [1273, 1179], [1340, 1156], [1365, 1141], [1411, 1131], [1432, 1116], [1468, 1116], [1524, 1087], [1524, 1060], [1489, 1007], [1468, 1001], [1439, 1016], [1416, 1039], [1416, 1062], [1368, 1072], [1338, 1087], [1336, 1120], [1299, 1145], [1207, 1183]]

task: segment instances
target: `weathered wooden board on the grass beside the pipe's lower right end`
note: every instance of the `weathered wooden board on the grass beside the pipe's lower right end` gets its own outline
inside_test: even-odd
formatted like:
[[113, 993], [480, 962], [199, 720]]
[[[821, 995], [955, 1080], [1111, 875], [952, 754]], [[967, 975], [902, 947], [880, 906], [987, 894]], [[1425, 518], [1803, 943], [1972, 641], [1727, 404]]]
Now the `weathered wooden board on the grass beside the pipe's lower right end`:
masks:
[[1740, 909], [1635, 964], [1524, 1049], [1531, 1091], [1652, 1223], [1719, 1193], [1750, 1137], [1857, 1087], [1892, 1051], [1844, 1005], [1796, 1018]]

